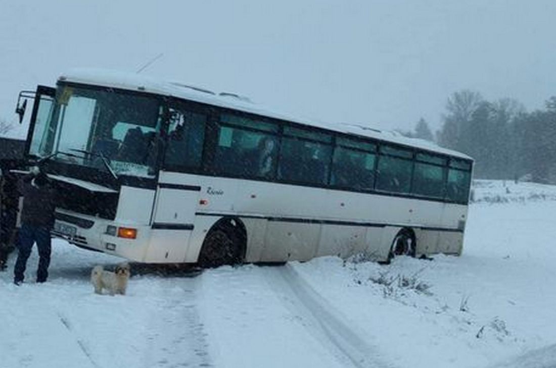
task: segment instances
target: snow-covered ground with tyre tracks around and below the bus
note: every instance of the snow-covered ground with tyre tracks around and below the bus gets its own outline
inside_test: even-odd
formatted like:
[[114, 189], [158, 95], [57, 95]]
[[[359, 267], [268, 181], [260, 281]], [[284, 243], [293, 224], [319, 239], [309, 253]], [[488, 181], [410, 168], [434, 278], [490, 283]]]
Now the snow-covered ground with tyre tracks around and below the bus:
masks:
[[391, 265], [321, 258], [132, 276], [55, 240], [51, 276], [0, 273], [0, 368], [556, 366], [556, 188], [475, 185], [464, 254]]

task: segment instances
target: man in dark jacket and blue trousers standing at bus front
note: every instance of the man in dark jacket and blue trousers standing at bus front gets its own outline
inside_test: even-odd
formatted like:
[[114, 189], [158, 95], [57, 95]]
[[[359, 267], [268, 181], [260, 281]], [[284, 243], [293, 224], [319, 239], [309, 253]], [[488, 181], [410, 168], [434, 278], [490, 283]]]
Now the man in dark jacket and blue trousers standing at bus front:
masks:
[[27, 259], [31, 255], [34, 243], [39, 254], [37, 283], [44, 283], [48, 278], [50, 264], [51, 239], [50, 230], [54, 225], [55, 190], [47, 175], [37, 167], [24, 177], [21, 183], [23, 209], [21, 211], [21, 229], [19, 230], [18, 255], [14, 268], [13, 282], [23, 282]]

